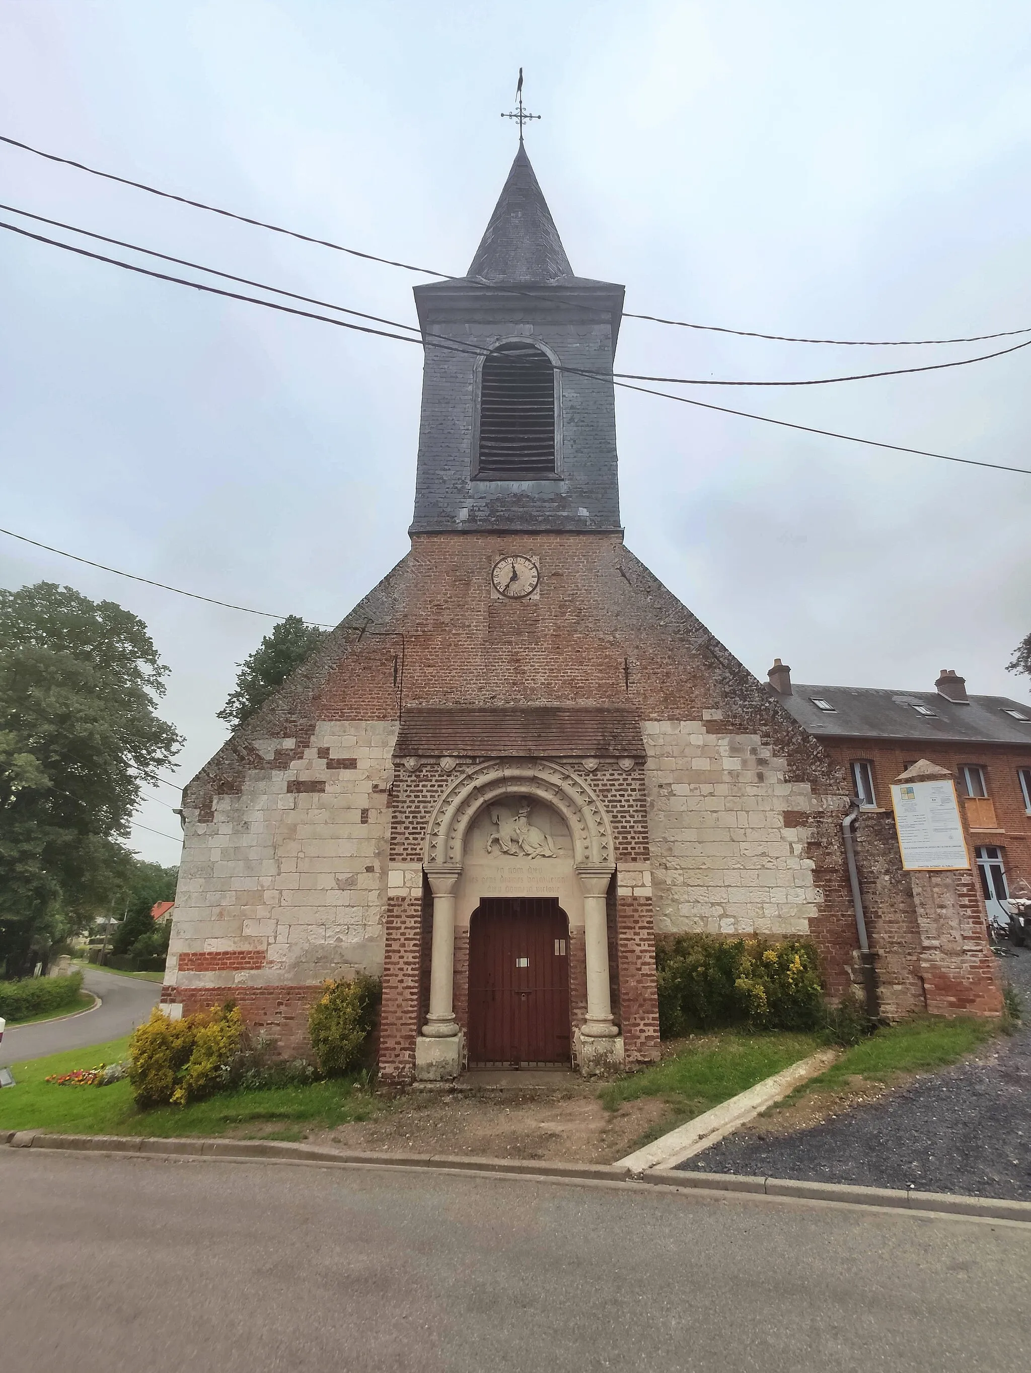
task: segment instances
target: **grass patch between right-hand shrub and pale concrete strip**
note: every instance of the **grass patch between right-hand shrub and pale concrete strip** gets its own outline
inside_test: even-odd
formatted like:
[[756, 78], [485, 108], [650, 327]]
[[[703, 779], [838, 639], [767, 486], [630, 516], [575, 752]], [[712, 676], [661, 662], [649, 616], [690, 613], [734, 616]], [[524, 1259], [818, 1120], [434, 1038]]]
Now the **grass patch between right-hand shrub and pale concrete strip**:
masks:
[[718, 1030], [692, 1035], [680, 1053], [656, 1063], [653, 1068], [608, 1083], [600, 1096], [610, 1111], [618, 1111], [625, 1101], [638, 1097], [662, 1097], [666, 1101], [669, 1116], [637, 1141], [637, 1148], [641, 1148], [825, 1046], [824, 1035], [783, 1030]]

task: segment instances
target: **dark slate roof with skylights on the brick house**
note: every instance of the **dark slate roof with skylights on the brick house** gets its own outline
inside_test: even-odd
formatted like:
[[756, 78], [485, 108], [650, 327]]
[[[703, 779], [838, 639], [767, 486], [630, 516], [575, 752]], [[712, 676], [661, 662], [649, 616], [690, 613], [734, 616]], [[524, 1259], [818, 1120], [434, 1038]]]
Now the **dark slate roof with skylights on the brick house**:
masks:
[[[913, 739], [932, 743], [1027, 744], [1031, 754], [1031, 706], [1008, 696], [947, 700], [936, 691], [891, 691], [880, 686], [813, 686], [792, 684], [791, 696], [772, 695], [813, 733], [828, 739]], [[821, 710], [825, 700], [833, 710]], [[923, 706], [932, 714], [914, 708]], [[1006, 711], [1026, 715], [1015, 719]]]

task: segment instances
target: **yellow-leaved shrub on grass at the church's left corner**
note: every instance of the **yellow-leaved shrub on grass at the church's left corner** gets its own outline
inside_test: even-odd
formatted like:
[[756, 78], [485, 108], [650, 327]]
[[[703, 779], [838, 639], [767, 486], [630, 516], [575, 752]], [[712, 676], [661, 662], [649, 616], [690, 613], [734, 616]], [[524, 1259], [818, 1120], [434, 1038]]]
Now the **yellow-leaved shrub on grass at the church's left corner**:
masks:
[[158, 1006], [129, 1041], [129, 1082], [139, 1107], [185, 1105], [210, 1096], [229, 1075], [243, 1041], [243, 1019], [227, 1001], [214, 1011], [170, 1020]]

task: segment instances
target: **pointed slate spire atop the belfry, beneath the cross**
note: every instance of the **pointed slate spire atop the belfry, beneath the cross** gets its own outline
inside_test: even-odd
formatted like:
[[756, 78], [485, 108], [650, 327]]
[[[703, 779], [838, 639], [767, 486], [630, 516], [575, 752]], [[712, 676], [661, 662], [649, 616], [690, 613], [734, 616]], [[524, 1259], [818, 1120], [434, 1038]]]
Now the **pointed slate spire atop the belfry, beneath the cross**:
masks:
[[522, 143], [465, 275], [479, 281], [527, 283], [574, 275]]

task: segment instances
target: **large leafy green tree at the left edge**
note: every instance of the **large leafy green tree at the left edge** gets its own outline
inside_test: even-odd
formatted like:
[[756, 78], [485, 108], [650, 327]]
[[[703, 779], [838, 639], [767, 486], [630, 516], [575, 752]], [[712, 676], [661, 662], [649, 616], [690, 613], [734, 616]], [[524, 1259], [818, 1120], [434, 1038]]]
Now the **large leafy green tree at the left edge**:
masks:
[[136, 615], [38, 582], [0, 590], [0, 962], [23, 975], [129, 884], [140, 781], [178, 752], [167, 667]]

